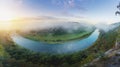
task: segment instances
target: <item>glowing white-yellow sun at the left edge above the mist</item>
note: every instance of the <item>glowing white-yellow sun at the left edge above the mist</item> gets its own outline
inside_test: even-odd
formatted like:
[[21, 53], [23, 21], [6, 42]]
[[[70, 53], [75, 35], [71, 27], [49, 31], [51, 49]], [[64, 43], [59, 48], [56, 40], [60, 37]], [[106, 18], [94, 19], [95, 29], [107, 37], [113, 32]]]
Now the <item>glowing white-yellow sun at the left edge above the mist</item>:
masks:
[[11, 21], [15, 18], [13, 11], [0, 10], [0, 30], [10, 30], [12, 26]]

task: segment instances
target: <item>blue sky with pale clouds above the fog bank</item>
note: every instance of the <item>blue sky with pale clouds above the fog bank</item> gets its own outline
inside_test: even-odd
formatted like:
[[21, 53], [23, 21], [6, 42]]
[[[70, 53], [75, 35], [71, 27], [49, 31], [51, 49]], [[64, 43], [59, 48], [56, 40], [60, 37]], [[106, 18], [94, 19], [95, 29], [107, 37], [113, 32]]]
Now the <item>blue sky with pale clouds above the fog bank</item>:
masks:
[[[115, 23], [120, 0], [0, 0], [0, 15], [55, 17], [88, 23]], [[1, 16], [0, 16], [1, 17]], [[3, 17], [4, 19], [4, 17]]]

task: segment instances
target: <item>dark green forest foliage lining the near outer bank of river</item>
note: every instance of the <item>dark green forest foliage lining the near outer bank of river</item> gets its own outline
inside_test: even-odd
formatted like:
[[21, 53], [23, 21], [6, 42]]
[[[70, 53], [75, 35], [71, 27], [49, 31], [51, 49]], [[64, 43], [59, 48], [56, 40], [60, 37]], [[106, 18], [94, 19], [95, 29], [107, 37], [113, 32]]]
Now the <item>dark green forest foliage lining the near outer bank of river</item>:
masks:
[[103, 57], [103, 53], [114, 46], [119, 29], [115, 28], [108, 32], [101, 30], [99, 39], [90, 48], [73, 54], [62, 55], [33, 52], [17, 46], [9, 36], [0, 36], [2, 44], [0, 55], [4, 56], [4, 52], [10, 55], [10, 58], [4, 59], [0, 65], [3, 67], [81, 67], [94, 58]]

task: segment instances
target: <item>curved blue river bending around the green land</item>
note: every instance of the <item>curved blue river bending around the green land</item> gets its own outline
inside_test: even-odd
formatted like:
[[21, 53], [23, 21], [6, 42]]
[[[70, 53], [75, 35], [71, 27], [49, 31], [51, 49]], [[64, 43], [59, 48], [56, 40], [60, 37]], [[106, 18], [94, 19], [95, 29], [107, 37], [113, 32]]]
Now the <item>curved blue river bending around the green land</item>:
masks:
[[73, 40], [62, 44], [48, 44], [48, 43], [33, 41], [24, 38], [18, 34], [12, 35], [11, 38], [16, 44], [35, 52], [49, 53], [49, 54], [66, 54], [66, 53], [78, 52], [90, 47], [98, 39], [99, 33], [100, 33], [99, 30], [96, 29], [87, 38], [84, 38], [82, 40]]

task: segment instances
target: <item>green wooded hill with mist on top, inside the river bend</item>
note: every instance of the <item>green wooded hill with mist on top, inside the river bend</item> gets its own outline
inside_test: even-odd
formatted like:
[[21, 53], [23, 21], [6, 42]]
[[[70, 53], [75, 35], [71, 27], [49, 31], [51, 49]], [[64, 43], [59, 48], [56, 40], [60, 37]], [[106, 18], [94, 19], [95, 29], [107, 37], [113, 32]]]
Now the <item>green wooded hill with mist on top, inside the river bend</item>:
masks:
[[19, 34], [35, 41], [61, 43], [81, 39], [91, 34], [95, 29], [93, 25], [78, 22], [60, 22], [48, 25], [42, 25], [41, 28], [27, 32], [19, 32]]

